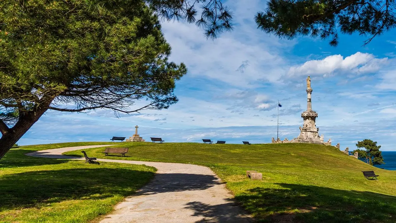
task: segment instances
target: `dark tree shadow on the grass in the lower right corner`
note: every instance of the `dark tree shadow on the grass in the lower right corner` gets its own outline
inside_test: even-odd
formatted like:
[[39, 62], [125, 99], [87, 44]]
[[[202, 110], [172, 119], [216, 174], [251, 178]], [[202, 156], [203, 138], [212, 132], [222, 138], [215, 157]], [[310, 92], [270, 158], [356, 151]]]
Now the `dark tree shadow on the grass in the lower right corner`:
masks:
[[360, 223], [396, 222], [396, 197], [367, 191], [278, 184], [236, 196], [259, 222]]

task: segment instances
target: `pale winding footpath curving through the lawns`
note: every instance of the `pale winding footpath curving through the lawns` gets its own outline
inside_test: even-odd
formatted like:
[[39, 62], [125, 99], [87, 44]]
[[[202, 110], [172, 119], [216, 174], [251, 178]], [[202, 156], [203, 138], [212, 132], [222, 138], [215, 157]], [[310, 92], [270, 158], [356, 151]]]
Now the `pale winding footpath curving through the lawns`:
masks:
[[[84, 160], [63, 152], [110, 145], [75, 146], [41, 150], [27, 156]], [[249, 223], [252, 218], [232, 200], [225, 184], [199, 165], [97, 159], [157, 168], [154, 179], [116, 205], [100, 223]]]

